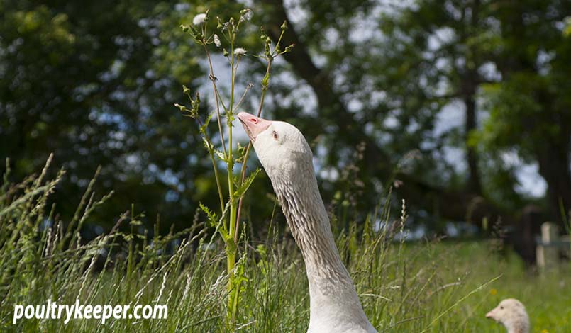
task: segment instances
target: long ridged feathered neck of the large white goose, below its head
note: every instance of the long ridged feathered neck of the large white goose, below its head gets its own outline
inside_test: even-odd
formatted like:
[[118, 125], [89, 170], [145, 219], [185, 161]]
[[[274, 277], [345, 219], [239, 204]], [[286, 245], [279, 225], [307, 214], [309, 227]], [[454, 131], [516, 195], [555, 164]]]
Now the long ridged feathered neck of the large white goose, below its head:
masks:
[[295, 174], [299, 181], [274, 177], [272, 185], [306, 264], [311, 307], [308, 332], [314, 332], [312, 327], [343, 324], [376, 332], [340, 259], [313, 166], [310, 164]]

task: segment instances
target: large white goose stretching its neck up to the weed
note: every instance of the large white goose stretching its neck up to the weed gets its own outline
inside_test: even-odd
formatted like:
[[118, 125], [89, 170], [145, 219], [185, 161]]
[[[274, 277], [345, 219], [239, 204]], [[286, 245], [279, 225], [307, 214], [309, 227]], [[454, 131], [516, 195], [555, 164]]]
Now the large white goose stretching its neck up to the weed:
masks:
[[301, 249], [309, 281], [308, 333], [372, 333], [355, 286], [340, 259], [312, 163], [313, 154], [294, 125], [240, 112], [289, 228]]

